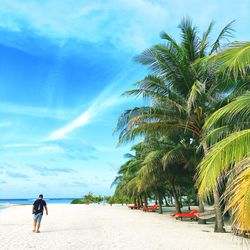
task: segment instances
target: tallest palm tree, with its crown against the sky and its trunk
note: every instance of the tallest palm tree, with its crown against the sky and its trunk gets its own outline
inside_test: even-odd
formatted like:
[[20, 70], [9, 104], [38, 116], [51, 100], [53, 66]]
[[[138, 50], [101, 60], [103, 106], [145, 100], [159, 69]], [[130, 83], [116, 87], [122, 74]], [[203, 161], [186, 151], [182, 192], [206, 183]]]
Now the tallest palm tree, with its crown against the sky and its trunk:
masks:
[[[231, 36], [231, 24], [222, 29], [215, 42], [210, 43], [208, 38], [213, 23], [200, 38], [197, 28], [189, 19], [184, 19], [179, 26], [180, 43], [162, 33], [165, 44], [153, 46], [136, 58], [149, 67], [151, 74], [126, 94], [149, 98], [151, 105], [134, 108], [121, 115], [117, 125], [120, 142], [148, 134], [169, 136], [179, 133], [183, 137], [188, 135], [195, 146], [202, 144], [204, 155], [208, 152], [209, 145], [202, 141], [203, 124], [207, 116], [227, 103], [228, 93], [235, 88], [235, 82], [223, 84], [221, 77], [215, 74], [216, 68], [206, 68], [204, 61], [199, 60], [220, 50], [222, 40]], [[222, 232], [217, 189], [213, 193], [215, 231]]]

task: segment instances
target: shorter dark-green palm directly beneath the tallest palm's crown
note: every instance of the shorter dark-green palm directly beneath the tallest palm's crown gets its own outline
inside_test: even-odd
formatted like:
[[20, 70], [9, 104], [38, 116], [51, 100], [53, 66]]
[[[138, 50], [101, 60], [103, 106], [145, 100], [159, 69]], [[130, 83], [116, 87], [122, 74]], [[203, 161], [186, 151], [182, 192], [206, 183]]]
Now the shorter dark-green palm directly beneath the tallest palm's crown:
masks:
[[190, 148], [186, 147], [184, 141], [180, 142], [180, 138], [176, 140], [176, 136], [146, 138], [143, 147], [147, 154], [139, 171], [142, 180], [147, 183], [148, 180], [153, 181], [149, 188], [154, 189], [157, 194], [160, 211], [162, 196], [167, 188], [174, 197], [176, 212], [180, 213], [180, 195], [177, 189], [192, 183], [193, 164], [186, 157], [187, 154], [191, 155]]

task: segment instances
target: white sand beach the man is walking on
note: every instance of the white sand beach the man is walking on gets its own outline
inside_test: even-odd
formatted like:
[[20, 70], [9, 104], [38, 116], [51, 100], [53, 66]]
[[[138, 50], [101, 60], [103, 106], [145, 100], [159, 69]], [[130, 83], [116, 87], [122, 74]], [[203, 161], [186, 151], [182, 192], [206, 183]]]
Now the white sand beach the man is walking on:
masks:
[[32, 232], [31, 206], [1, 210], [0, 249], [242, 250], [250, 246], [248, 240], [231, 233], [213, 233], [213, 225], [176, 221], [168, 214], [126, 206], [55, 204], [48, 208], [40, 234]]

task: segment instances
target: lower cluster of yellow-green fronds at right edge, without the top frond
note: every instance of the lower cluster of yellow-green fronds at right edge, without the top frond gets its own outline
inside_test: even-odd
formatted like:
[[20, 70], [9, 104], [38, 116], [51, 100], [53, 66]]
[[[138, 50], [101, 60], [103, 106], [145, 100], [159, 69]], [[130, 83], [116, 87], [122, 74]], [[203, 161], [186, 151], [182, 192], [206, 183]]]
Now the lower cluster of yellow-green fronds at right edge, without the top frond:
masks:
[[233, 224], [239, 230], [250, 230], [250, 92], [216, 111], [204, 128], [212, 128], [210, 134], [217, 134], [219, 141], [200, 163], [197, 180], [200, 196], [209, 197], [227, 175], [226, 193], [231, 196], [227, 209], [232, 211]]

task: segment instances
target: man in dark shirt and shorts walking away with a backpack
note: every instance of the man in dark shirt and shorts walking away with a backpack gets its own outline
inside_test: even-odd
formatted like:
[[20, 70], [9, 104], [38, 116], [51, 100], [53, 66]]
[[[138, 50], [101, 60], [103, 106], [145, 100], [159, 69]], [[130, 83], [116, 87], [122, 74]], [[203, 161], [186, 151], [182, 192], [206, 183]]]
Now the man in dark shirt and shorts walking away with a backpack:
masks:
[[48, 215], [48, 208], [43, 195], [40, 194], [38, 199], [33, 203], [32, 214], [34, 214], [34, 230], [33, 232], [40, 233], [40, 225], [43, 217], [43, 209], [45, 208], [46, 215]]

